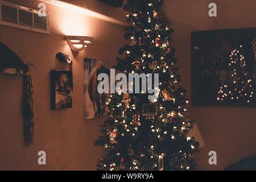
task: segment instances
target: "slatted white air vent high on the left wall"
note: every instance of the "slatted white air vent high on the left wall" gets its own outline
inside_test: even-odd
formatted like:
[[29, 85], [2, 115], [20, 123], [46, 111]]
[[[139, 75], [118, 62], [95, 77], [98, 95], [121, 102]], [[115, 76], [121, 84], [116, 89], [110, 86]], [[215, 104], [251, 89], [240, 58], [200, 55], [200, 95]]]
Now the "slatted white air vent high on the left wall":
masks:
[[0, 0], [0, 24], [49, 34], [48, 14], [40, 17], [37, 10]]

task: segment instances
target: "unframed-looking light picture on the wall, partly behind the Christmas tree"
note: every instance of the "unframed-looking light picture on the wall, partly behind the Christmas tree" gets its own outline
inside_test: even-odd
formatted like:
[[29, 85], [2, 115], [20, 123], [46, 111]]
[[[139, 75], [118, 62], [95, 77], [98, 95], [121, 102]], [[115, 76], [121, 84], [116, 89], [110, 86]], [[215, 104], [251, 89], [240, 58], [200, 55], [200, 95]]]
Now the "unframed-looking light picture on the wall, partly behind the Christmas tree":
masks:
[[107, 112], [106, 98], [108, 94], [97, 91], [100, 73], [109, 75], [109, 61], [85, 59], [84, 60], [84, 118], [92, 119], [104, 117]]

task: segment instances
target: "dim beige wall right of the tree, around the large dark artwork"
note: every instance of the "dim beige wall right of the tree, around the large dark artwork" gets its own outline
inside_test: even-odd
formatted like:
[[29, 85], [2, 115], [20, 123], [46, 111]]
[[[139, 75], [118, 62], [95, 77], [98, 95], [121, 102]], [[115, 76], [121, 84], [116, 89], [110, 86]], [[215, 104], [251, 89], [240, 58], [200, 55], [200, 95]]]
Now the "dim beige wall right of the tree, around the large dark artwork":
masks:
[[[217, 18], [208, 16], [208, 5], [217, 3]], [[172, 20], [172, 46], [179, 60], [181, 84], [191, 98], [191, 31], [255, 27], [254, 0], [166, 0], [163, 11]], [[205, 147], [197, 154], [197, 169], [224, 169], [247, 156], [256, 155], [256, 109], [246, 107], [189, 107]], [[217, 166], [208, 164], [208, 152], [217, 152]]]

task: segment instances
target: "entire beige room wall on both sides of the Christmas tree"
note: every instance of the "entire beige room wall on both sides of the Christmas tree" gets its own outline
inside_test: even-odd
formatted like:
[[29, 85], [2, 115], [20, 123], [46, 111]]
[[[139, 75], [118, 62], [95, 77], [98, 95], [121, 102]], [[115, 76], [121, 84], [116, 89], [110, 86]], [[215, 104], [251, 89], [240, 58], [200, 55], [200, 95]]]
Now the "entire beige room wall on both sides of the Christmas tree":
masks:
[[[69, 1], [69, 0], [66, 0]], [[36, 9], [37, 1], [9, 0]], [[98, 13], [122, 20], [124, 13], [97, 1], [72, 1]], [[86, 2], [86, 3], [84, 3]], [[256, 2], [253, 0], [214, 1], [218, 17], [209, 18], [208, 0], [166, 0], [163, 11], [172, 20], [175, 34], [172, 46], [177, 49], [182, 85], [191, 97], [190, 32], [255, 26]], [[0, 26], [0, 42], [9, 46], [33, 70], [35, 100], [35, 144], [24, 146], [21, 114], [22, 77], [0, 73], [0, 169], [96, 169], [100, 150], [93, 147], [99, 135], [102, 119], [83, 119], [83, 59], [109, 59], [112, 65], [119, 47], [125, 44], [123, 27], [53, 5], [47, 6], [50, 15], [49, 35]], [[96, 40], [79, 53], [71, 52], [64, 35], [93, 36]], [[57, 52], [73, 58], [73, 108], [50, 109], [50, 78], [52, 69], [67, 69], [55, 59]], [[189, 116], [196, 119], [206, 146], [197, 154], [197, 169], [223, 169], [246, 156], [256, 154], [256, 116], [254, 108], [189, 107]], [[37, 164], [38, 151], [47, 152], [47, 165]], [[217, 151], [217, 166], [209, 166], [208, 152]]]

